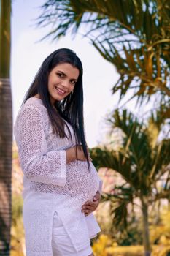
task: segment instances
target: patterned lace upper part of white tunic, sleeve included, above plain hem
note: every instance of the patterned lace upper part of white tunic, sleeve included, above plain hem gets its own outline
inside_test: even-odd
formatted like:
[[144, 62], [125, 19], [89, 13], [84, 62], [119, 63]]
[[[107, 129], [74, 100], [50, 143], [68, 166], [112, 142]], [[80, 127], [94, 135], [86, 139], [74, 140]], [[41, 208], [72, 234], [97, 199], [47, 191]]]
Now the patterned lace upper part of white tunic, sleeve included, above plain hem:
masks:
[[[68, 124], [69, 125], [69, 124]], [[53, 134], [47, 110], [36, 99], [28, 99], [20, 110], [15, 124], [20, 164], [35, 192], [55, 193], [88, 200], [98, 190], [98, 175], [93, 164], [75, 161], [66, 166], [66, 148], [75, 145], [74, 131], [69, 125], [72, 140]]]

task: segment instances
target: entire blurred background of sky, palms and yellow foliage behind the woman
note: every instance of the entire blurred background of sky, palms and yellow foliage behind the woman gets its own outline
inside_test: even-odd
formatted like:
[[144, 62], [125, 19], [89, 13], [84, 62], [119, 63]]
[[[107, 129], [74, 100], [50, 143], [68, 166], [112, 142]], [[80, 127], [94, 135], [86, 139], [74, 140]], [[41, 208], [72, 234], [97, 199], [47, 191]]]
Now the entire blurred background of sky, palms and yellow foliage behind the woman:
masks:
[[82, 60], [85, 133], [104, 181], [94, 254], [170, 255], [169, 24], [169, 0], [1, 0], [0, 255], [26, 255], [12, 124], [58, 48]]

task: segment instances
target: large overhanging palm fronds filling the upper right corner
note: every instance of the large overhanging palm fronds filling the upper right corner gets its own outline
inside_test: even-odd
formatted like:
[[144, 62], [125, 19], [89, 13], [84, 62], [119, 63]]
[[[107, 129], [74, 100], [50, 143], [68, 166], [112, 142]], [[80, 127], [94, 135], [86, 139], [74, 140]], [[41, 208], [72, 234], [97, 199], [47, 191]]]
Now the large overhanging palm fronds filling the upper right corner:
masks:
[[[155, 95], [170, 116], [170, 0], [48, 0], [38, 26], [53, 40], [78, 29], [117, 67], [112, 92], [132, 91], [139, 103]], [[82, 29], [83, 28], [83, 29]], [[84, 32], [85, 31], [85, 32]]]

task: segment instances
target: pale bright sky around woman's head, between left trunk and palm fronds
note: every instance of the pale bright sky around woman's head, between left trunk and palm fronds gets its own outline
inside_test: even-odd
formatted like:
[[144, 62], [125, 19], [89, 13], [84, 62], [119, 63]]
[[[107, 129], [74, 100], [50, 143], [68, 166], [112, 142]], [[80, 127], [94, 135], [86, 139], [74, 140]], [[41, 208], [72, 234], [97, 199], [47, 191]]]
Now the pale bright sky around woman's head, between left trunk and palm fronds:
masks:
[[115, 67], [105, 61], [88, 39], [70, 35], [51, 42], [38, 42], [48, 29], [36, 28], [39, 6], [45, 0], [12, 1], [11, 82], [13, 122], [23, 98], [42, 61], [58, 48], [70, 48], [80, 57], [84, 69], [85, 133], [89, 147], [102, 143], [105, 138], [107, 113], [115, 108], [117, 97], [112, 96], [112, 86], [118, 79]]

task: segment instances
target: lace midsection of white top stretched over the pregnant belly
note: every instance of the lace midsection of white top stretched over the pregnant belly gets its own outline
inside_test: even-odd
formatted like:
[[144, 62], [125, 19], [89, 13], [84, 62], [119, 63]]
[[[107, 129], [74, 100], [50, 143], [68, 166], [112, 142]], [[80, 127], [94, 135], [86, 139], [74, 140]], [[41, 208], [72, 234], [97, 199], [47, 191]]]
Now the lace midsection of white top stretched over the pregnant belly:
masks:
[[90, 162], [88, 170], [87, 162], [77, 161], [67, 165], [66, 185], [64, 187], [34, 182], [36, 192], [53, 193], [56, 197], [65, 195], [81, 202], [92, 200], [99, 187], [99, 178], [96, 168]]

